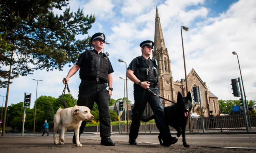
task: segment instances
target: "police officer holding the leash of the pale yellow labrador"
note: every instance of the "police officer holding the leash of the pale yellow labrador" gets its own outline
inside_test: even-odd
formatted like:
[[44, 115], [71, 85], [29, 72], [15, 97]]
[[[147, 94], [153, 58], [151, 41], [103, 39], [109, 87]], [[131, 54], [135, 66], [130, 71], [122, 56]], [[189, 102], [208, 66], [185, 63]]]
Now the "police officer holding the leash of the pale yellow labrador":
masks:
[[[109, 138], [111, 136], [109, 101], [113, 90], [111, 73], [114, 70], [109, 58], [107, 58], [108, 53], [102, 53], [105, 35], [95, 33], [91, 37], [91, 43], [94, 49], [86, 50], [79, 56], [77, 63], [69, 70], [66, 80], [68, 83], [69, 78], [80, 69], [81, 83], [77, 104], [92, 110], [94, 102], [96, 102], [99, 108], [101, 145], [114, 146], [115, 143]], [[107, 84], [108, 90], [106, 89]], [[79, 138], [85, 125], [86, 121], [83, 121], [79, 130]], [[76, 143], [75, 135], [73, 136], [73, 143]]]

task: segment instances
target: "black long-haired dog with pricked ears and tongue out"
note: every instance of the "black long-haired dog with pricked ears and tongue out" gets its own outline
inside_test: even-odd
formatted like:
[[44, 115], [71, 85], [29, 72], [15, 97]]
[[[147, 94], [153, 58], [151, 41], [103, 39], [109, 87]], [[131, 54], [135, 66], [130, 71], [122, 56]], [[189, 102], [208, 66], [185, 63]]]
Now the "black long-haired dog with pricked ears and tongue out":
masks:
[[[182, 134], [182, 142], [183, 146], [189, 147], [186, 142], [186, 126], [188, 123], [188, 115], [190, 110], [192, 109], [192, 97], [191, 93], [188, 92], [187, 97], [182, 97], [180, 92], [178, 92], [177, 103], [171, 106], [164, 108], [164, 116], [166, 123], [175, 130], [177, 130], [177, 137], [180, 137]], [[152, 120], [154, 115], [152, 116], [142, 116], [142, 121], [147, 122]], [[160, 145], [162, 145], [162, 140], [159, 138]]]

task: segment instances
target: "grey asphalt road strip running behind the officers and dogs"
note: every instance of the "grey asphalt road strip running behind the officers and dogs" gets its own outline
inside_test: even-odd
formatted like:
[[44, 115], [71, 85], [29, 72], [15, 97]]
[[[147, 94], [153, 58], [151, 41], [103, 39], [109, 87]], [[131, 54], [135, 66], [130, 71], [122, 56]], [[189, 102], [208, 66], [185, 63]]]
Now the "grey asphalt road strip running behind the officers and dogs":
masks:
[[[21, 136], [21, 133], [5, 133], [6, 136]], [[25, 137], [38, 137], [41, 133], [24, 133]], [[57, 134], [58, 137], [59, 134]], [[137, 143], [159, 144], [157, 133], [140, 133], [136, 139]], [[174, 137], [175, 135], [172, 134]], [[46, 135], [44, 135], [46, 137]], [[48, 137], [53, 137], [50, 133]], [[72, 138], [73, 133], [65, 133], [65, 138]], [[83, 133], [81, 140], [101, 140], [99, 133]], [[129, 135], [127, 133], [112, 133], [113, 141], [128, 144]], [[227, 147], [227, 148], [249, 148], [256, 150], [256, 134], [187, 134], [187, 144], [190, 146], [207, 146], [207, 147]], [[182, 145], [182, 136], [178, 138], [175, 145]]]

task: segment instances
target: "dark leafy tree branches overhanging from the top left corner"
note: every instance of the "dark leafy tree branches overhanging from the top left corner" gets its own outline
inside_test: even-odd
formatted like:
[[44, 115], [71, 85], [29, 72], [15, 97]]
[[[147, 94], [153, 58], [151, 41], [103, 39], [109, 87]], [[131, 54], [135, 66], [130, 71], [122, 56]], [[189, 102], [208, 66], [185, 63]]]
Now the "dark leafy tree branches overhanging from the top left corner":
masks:
[[[66, 7], [68, 1], [0, 1], [0, 34], [9, 47], [0, 48], [0, 63], [12, 65], [10, 79], [37, 69], [62, 70], [65, 64], [76, 62], [79, 54], [90, 46], [89, 36], [81, 40], [75, 36], [88, 34], [94, 15], [84, 16], [80, 8], [75, 13], [66, 8], [59, 16], [53, 13], [53, 9]], [[8, 71], [1, 67], [0, 72], [0, 87], [6, 87]]]

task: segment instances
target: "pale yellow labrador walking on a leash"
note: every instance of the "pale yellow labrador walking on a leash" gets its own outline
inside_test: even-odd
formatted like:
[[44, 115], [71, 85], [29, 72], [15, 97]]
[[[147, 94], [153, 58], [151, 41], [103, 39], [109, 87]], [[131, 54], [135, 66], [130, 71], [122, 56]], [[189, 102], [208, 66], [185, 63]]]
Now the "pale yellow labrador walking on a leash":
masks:
[[93, 117], [94, 116], [91, 114], [91, 110], [85, 106], [76, 105], [66, 109], [59, 108], [54, 115], [54, 144], [58, 144], [56, 133], [59, 126], [61, 126], [61, 133], [59, 133], [59, 144], [64, 144], [64, 133], [66, 130], [74, 129], [76, 135], [76, 146], [82, 146], [79, 142], [79, 127], [81, 126], [82, 121], [92, 121]]

